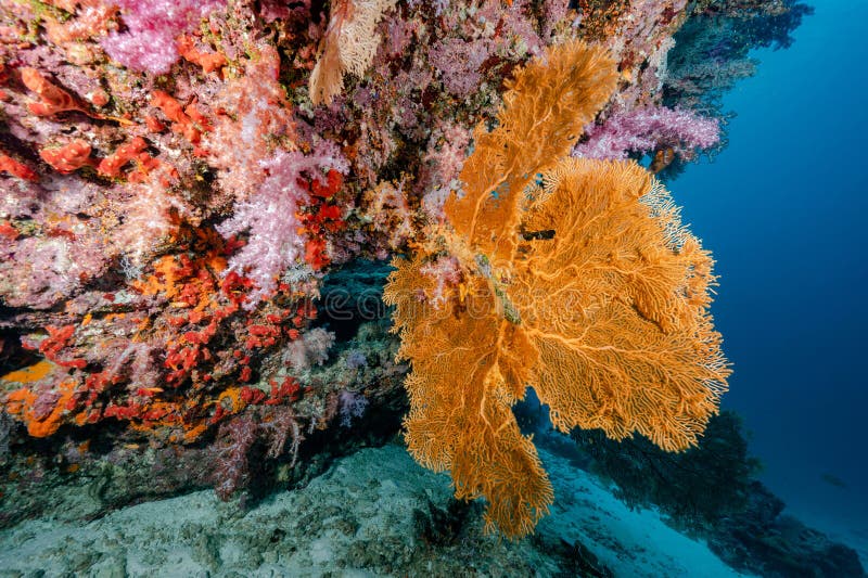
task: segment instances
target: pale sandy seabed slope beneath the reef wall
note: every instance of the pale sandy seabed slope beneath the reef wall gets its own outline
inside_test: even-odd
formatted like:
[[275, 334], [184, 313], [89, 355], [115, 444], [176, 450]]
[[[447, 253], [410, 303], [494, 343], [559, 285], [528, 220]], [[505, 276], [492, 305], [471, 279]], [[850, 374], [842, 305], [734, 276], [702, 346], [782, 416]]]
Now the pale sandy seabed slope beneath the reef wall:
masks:
[[396, 444], [341, 459], [246, 513], [200, 491], [87, 523], [22, 523], [0, 532], [0, 576], [567, 576], [579, 573], [575, 540], [615, 576], [738, 576], [654, 512], [630, 512], [585, 472], [541, 455], [557, 504], [519, 543], [483, 536], [480, 506], [432, 540], [422, 528], [447, 509], [449, 478]]

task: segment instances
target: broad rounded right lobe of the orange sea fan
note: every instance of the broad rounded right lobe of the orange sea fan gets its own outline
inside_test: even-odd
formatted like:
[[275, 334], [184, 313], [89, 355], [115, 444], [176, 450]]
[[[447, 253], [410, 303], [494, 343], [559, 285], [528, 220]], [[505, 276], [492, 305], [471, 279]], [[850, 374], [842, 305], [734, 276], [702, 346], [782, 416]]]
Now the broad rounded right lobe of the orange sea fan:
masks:
[[539, 351], [532, 383], [563, 431], [694, 445], [728, 375], [707, 313], [711, 257], [676, 215], [654, 215], [664, 192], [635, 163], [558, 170], [523, 219], [553, 237], [520, 247], [508, 287]]

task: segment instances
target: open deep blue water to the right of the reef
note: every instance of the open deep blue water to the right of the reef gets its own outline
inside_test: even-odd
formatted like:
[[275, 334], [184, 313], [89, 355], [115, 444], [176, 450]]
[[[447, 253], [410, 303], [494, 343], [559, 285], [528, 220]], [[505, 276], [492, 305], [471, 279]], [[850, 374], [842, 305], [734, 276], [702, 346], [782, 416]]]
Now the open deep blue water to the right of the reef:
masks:
[[[715, 163], [672, 183], [717, 259], [714, 306], [764, 480], [868, 558], [868, 1], [816, 0], [725, 100]], [[846, 488], [821, 477], [833, 475]]]

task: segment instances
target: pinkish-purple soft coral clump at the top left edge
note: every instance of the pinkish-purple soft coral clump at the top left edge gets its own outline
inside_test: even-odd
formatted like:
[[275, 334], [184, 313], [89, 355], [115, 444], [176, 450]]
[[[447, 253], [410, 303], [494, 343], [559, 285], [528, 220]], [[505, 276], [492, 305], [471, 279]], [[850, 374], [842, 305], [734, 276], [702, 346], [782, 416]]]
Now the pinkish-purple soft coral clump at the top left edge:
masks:
[[178, 35], [195, 27], [226, 0], [113, 0], [124, 10], [125, 33], [113, 33], [102, 48], [133, 70], [165, 74], [180, 54]]

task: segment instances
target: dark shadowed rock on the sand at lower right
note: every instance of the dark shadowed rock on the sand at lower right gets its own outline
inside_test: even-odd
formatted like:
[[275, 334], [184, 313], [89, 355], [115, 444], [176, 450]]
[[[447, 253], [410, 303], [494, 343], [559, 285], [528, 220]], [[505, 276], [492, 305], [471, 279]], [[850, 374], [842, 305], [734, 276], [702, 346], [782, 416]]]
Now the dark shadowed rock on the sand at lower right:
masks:
[[579, 452], [580, 466], [611, 480], [618, 498], [631, 508], [658, 509], [673, 527], [706, 539], [737, 570], [787, 578], [865, 576], [855, 550], [783, 514], [783, 501], [755, 479], [760, 462], [750, 455], [733, 412], [715, 415], [699, 447], [681, 454], [660, 451], [641, 437], [618, 444], [598, 431], [576, 431], [573, 438], [576, 447], [569, 448], [541, 437], [561, 454]]

